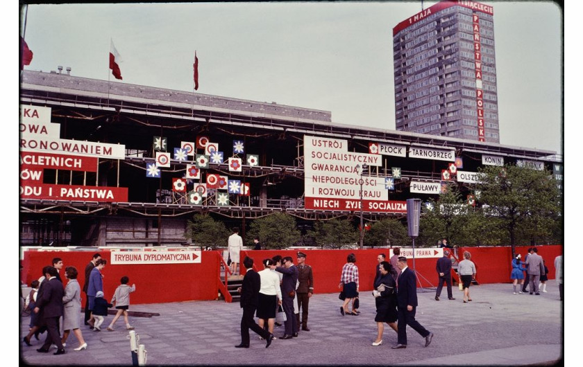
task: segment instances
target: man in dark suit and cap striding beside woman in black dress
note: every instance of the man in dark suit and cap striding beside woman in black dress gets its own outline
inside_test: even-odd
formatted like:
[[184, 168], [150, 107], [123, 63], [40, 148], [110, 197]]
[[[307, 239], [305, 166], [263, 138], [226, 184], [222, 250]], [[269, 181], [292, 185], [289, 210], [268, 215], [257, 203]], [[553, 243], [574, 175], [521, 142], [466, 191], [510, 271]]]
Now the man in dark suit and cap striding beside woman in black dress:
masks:
[[429, 346], [433, 333], [423, 328], [415, 320], [415, 309], [417, 307], [417, 278], [415, 272], [407, 267], [407, 258], [400, 256], [397, 263], [401, 274], [398, 278], [397, 287], [397, 345], [393, 349], [407, 348], [407, 325], [425, 338], [425, 346]]

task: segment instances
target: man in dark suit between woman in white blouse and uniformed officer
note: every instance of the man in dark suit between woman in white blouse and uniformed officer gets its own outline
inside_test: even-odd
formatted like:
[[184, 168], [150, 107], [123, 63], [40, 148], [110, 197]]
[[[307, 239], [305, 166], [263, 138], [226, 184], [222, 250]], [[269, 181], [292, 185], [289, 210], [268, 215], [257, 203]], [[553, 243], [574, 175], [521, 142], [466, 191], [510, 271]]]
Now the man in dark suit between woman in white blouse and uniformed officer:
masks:
[[294, 298], [296, 297], [296, 283], [298, 281], [298, 268], [292, 258], [286, 256], [282, 259], [283, 266], [276, 267], [276, 271], [283, 274], [281, 280], [281, 296], [283, 312], [285, 312], [285, 334], [280, 339], [292, 339], [298, 337], [299, 325], [294, 315]]

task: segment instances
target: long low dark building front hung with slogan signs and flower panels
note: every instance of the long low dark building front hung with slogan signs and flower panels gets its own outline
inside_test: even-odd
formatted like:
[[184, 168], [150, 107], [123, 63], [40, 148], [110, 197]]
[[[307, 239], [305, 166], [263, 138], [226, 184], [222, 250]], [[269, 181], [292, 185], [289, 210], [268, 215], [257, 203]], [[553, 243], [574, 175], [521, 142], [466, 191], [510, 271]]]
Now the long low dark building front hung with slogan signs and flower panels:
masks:
[[[24, 71], [19, 101], [21, 245], [185, 244], [187, 220], [196, 213], [242, 228], [276, 212], [294, 215], [304, 229], [361, 213], [366, 221], [403, 218], [406, 199], [436, 197], [444, 181], [471, 194], [472, 172], [483, 165], [562, 164], [548, 150], [341, 125], [330, 111], [69, 72]], [[71, 157], [78, 165], [65, 166]], [[350, 169], [362, 157], [376, 163], [318, 171], [328, 162], [337, 164], [331, 170]], [[452, 163], [457, 174], [449, 175]], [[330, 177], [341, 183], [327, 188]], [[224, 179], [222, 187], [213, 179]], [[380, 186], [369, 191], [380, 196], [363, 199], [361, 179]], [[425, 191], [435, 184], [437, 193]]]

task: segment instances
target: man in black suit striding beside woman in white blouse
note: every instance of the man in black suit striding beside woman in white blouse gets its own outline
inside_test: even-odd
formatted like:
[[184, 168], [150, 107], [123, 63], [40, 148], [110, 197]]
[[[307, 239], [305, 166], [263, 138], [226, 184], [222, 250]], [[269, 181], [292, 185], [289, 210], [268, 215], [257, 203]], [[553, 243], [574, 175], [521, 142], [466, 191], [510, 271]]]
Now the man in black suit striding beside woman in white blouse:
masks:
[[243, 309], [243, 316], [241, 317], [241, 343], [235, 348], [249, 348], [249, 329], [267, 340], [265, 348], [269, 347], [273, 340], [273, 334], [264, 330], [255, 323], [253, 316], [259, 303], [259, 289], [261, 288], [261, 278], [255, 270], [253, 270], [253, 259], [245, 256], [243, 266], [247, 269], [243, 278], [243, 284], [237, 291], [241, 294], [239, 302]]

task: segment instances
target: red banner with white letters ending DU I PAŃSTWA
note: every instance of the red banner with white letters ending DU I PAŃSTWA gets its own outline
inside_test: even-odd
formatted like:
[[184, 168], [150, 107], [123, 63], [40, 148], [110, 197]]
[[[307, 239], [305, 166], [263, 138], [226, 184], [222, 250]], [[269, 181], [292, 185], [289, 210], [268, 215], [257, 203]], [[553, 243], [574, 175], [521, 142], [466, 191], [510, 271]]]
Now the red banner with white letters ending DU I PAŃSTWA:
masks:
[[20, 198], [71, 200], [76, 202], [127, 202], [128, 188], [51, 185], [21, 181]]

